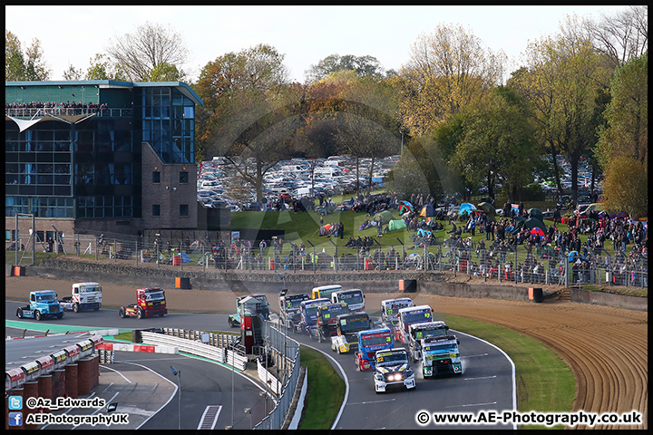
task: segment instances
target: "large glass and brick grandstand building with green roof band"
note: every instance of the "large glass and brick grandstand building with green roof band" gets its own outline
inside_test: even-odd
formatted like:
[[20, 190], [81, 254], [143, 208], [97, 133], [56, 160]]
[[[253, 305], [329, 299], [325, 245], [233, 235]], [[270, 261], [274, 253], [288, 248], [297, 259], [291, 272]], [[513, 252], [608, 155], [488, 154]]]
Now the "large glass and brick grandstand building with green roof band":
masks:
[[5, 242], [26, 215], [41, 240], [196, 228], [201, 104], [183, 82], [5, 82]]

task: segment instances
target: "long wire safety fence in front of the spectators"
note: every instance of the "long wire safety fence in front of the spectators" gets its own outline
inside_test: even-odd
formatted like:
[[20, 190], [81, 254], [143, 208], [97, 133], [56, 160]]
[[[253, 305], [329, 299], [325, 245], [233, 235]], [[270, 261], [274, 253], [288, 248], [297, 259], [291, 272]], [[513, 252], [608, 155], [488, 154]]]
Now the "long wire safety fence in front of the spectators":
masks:
[[[20, 242], [20, 241], [19, 241]], [[410, 247], [377, 246], [297, 247], [287, 243], [280, 247], [260, 249], [251, 241], [210, 246], [200, 240], [156, 240], [146, 247], [139, 237], [109, 238], [96, 235], [57, 237], [52, 247], [39, 241], [34, 250], [59, 252], [65, 256], [85, 256], [97, 260], [134, 266], [176, 266], [181, 270], [247, 270], [247, 271], [379, 271], [424, 270], [480, 276], [485, 279], [524, 282], [541, 285], [619, 285], [648, 287], [648, 258], [597, 255], [594, 251], [561, 252], [558, 249], [526, 245], [505, 245], [496, 242], [485, 247], [471, 239], [423, 238], [415, 235]], [[310, 243], [309, 243], [310, 244]], [[289, 248], [288, 248], [289, 245]], [[14, 247], [12, 245], [11, 247]], [[15, 264], [29, 263], [32, 241], [18, 245]], [[12, 254], [7, 252], [7, 258]], [[606, 261], [606, 259], [608, 259]]]

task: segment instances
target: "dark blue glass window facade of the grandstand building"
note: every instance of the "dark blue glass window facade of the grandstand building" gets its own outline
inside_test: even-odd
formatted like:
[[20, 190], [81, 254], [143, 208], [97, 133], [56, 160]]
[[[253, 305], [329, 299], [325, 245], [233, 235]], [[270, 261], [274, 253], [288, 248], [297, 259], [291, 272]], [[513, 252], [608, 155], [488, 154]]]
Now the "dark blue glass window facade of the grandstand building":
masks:
[[[89, 118], [44, 118], [20, 131], [5, 116], [5, 217], [34, 212], [39, 218], [141, 218], [141, 142], [149, 142], [164, 163], [194, 163], [197, 100], [186, 96], [192, 92], [158, 83], [106, 82], [110, 86], [73, 83], [83, 102], [102, 105]], [[5, 103], [64, 103], [73, 92], [68, 87], [5, 82]], [[9, 105], [5, 115], [22, 121], [48, 114], [43, 109], [21, 114]], [[63, 116], [61, 108], [51, 113]], [[161, 172], [152, 173], [152, 182], [161, 182]], [[188, 174], [180, 174], [184, 182]]]

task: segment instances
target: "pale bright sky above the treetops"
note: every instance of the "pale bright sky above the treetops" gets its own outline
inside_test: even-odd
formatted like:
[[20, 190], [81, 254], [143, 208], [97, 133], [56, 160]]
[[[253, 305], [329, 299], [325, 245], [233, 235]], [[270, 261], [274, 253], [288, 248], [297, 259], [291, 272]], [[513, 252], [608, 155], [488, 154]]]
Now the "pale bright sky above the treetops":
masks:
[[398, 71], [411, 47], [437, 25], [461, 25], [519, 67], [529, 42], [556, 34], [566, 15], [599, 20], [626, 5], [535, 6], [74, 6], [5, 5], [5, 29], [24, 50], [34, 38], [52, 70], [63, 80], [73, 65], [84, 72], [110, 40], [134, 34], [146, 22], [171, 26], [190, 51], [182, 69], [196, 81], [201, 68], [219, 56], [258, 43], [283, 54], [290, 78], [304, 82], [305, 71], [331, 54], [373, 56], [385, 70]]

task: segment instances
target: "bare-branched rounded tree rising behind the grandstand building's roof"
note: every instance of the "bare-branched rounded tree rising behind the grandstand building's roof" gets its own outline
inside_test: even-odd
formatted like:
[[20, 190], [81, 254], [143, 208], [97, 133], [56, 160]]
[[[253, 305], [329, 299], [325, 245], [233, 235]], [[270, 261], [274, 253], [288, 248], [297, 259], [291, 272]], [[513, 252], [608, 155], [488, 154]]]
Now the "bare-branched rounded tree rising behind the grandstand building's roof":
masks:
[[132, 82], [147, 82], [152, 71], [163, 63], [174, 66], [180, 79], [186, 75], [180, 67], [186, 63], [189, 50], [181, 35], [170, 26], [147, 22], [135, 34], [110, 39], [106, 52], [113, 63], [122, 65], [126, 78]]

